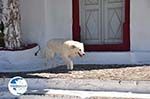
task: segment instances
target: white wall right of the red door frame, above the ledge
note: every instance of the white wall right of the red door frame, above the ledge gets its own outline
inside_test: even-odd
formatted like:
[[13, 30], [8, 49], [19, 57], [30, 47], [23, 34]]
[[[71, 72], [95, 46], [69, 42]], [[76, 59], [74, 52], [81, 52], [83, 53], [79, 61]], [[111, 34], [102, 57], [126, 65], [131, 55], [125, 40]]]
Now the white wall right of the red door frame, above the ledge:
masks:
[[150, 0], [131, 1], [131, 49], [150, 51]]

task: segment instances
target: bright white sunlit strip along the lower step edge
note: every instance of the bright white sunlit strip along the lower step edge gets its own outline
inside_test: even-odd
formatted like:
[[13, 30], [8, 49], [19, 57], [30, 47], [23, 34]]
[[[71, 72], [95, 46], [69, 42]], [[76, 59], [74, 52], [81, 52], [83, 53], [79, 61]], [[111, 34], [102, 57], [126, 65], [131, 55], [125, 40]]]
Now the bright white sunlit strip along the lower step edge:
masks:
[[[131, 93], [131, 92], [109, 92], [109, 91], [79, 91], [79, 90], [62, 90], [62, 89], [44, 89], [37, 92], [31, 90], [27, 95], [63, 95], [80, 97], [87, 99], [92, 97], [107, 97], [107, 98], [136, 98], [136, 99], [150, 99], [150, 94], [146, 93]], [[72, 98], [71, 98], [72, 99]]]

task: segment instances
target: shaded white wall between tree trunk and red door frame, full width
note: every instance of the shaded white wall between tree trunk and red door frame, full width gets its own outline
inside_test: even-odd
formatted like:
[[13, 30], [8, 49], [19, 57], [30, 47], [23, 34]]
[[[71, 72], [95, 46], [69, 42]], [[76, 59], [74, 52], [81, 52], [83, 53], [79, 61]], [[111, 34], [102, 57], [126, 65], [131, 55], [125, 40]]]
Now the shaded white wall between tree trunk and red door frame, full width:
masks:
[[72, 38], [71, 0], [22, 0], [25, 41], [40, 45], [51, 38]]

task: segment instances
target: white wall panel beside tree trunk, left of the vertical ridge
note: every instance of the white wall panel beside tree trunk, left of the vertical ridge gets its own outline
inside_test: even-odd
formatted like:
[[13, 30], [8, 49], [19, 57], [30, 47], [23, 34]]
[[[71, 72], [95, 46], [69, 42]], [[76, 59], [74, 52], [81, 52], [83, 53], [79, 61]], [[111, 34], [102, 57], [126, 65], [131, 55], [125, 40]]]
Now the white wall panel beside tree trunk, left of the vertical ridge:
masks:
[[42, 43], [45, 33], [44, 0], [21, 1], [22, 37], [27, 43]]

